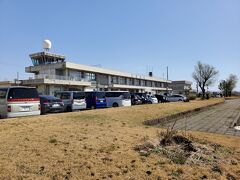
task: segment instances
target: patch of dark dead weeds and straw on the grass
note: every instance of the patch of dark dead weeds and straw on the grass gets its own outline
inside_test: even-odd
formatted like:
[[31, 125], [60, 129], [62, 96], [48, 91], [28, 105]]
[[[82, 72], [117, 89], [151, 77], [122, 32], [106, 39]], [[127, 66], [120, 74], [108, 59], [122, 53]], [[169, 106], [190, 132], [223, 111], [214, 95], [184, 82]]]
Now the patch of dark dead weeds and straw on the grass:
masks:
[[175, 130], [158, 132], [157, 137], [156, 141], [146, 139], [142, 144], [136, 145], [134, 150], [146, 157], [151, 153], [162, 155], [175, 164], [213, 165], [212, 170], [215, 172], [219, 172], [219, 169], [214, 165], [222, 161], [222, 157], [228, 152], [228, 149], [221, 145], [202, 142]]

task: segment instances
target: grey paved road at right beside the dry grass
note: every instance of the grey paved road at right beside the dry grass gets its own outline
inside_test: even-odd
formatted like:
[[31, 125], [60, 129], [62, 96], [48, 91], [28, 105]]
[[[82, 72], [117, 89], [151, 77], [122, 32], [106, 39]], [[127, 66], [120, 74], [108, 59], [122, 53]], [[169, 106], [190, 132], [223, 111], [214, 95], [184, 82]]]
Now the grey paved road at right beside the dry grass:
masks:
[[[233, 128], [233, 124], [239, 122], [239, 119], [240, 99], [228, 100], [224, 104], [177, 120], [174, 129], [240, 136], [240, 131]], [[165, 126], [171, 125], [172, 123], [169, 123]]]

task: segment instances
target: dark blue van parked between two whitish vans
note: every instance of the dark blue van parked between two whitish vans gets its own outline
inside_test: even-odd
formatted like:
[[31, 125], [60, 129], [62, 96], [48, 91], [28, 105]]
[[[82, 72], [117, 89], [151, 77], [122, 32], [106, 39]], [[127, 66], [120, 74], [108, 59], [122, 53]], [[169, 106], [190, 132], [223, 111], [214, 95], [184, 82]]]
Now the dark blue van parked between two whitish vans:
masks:
[[87, 108], [89, 109], [107, 107], [105, 92], [102, 92], [102, 91], [85, 92], [85, 98], [86, 98]]

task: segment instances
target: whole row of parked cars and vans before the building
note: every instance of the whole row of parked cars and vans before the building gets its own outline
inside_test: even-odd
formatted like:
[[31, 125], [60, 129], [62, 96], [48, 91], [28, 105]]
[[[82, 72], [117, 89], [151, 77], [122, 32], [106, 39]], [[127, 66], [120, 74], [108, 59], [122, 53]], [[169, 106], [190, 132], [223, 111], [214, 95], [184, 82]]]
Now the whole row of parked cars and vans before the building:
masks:
[[173, 101], [187, 101], [187, 98], [128, 91], [61, 91], [54, 96], [39, 96], [36, 88], [6, 87], [0, 88], [0, 118]]

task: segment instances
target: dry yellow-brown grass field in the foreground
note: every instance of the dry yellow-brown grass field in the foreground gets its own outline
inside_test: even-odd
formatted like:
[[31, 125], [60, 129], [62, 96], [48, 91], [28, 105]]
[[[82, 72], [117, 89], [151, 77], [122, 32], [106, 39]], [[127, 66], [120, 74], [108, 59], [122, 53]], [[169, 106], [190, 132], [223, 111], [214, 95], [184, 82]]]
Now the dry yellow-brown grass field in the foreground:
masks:
[[[188, 132], [226, 148], [218, 164], [175, 164], [134, 147], [155, 139], [144, 120], [221, 102], [223, 99], [86, 110], [0, 120], [0, 179], [226, 179], [240, 176], [240, 138]], [[157, 133], [158, 132], [158, 133]], [[226, 161], [224, 160], [226, 158]], [[233, 162], [233, 163], [228, 163]]]

